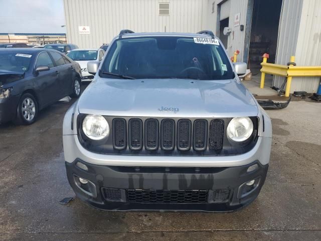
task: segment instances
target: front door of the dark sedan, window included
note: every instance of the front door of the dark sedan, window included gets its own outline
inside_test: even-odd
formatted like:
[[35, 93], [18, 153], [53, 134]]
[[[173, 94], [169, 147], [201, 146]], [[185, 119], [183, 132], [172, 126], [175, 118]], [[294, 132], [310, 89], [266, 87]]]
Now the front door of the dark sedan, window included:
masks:
[[40, 65], [48, 65], [48, 71], [41, 71], [35, 74], [36, 93], [41, 106], [47, 105], [56, 99], [59, 83], [59, 72], [55, 68], [48, 51], [38, 54], [35, 69]]

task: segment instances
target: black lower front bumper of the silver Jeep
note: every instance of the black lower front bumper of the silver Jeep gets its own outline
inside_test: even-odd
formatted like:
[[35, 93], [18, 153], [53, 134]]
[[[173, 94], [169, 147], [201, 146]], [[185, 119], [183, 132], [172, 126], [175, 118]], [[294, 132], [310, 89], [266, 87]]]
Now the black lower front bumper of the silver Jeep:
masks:
[[[85, 171], [76, 163], [85, 164]], [[247, 172], [257, 164], [257, 169]], [[268, 164], [235, 167], [124, 167], [66, 162], [76, 195], [104, 210], [233, 211], [251, 203], [264, 184]], [[88, 181], [81, 184], [79, 177]], [[252, 187], [245, 183], [255, 180]]]

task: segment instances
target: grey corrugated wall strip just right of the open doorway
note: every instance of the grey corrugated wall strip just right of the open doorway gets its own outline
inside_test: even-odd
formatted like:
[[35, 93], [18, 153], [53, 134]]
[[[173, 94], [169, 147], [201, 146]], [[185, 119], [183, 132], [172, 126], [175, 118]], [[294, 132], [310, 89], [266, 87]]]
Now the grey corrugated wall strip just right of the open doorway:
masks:
[[[276, 49], [276, 64], [287, 64], [295, 55], [303, 0], [283, 0]], [[281, 87], [284, 77], [274, 76], [273, 85]], [[295, 82], [295, 81], [292, 81]], [[293, 85], [292, 85], [293, 86]]]

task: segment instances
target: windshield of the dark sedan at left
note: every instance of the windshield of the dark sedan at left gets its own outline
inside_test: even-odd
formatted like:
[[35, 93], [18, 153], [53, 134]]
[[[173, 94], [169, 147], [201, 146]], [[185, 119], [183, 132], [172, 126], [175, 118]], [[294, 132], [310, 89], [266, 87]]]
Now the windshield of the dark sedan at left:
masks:
[[31, 53], [0, 52], [0, 70], [26, 72], [30, 68]]

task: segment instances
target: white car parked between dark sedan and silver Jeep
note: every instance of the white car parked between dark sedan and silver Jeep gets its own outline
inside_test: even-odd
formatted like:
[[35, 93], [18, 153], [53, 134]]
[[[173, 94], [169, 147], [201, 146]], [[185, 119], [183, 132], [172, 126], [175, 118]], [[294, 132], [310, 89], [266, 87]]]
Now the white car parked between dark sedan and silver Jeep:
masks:
[[101, 61], [104, 54], [105, 51], [103, 49], [75, 49], [71, 50], [67, 56], [80, 65], [82, 79], [91, 80], [94, 75], [88, 73], [87, 62], [92, 60]]

